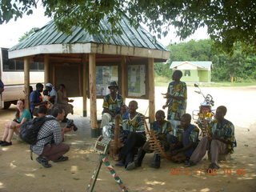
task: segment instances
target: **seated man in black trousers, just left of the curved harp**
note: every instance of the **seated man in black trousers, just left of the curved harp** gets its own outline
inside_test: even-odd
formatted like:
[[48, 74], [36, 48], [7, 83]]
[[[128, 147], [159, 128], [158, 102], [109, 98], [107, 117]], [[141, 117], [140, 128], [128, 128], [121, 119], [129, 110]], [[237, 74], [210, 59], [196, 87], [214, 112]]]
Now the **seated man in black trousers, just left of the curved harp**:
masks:
[[[116, 166], [125, 166], [126, 170], [135, 168], [134, 149], [141, 147], [146, 142], [144, 116], [138, 113], [138, 102], [131, 101], [129, 103], [129, 112], [122, 114], [122, 129], [126, 133], [127, 138], [125, 145], [120, 151], [121, 162]], [[142, 157], [138, 154], [138, 159]]]

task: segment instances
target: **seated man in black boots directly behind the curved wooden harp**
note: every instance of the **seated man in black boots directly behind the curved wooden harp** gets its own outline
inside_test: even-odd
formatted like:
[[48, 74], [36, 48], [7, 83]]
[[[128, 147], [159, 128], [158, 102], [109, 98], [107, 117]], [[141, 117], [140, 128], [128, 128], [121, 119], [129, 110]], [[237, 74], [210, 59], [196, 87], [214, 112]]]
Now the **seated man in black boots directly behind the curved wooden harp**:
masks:
[[[170, 134], [171, 126], [170, 122], [165, 120], [166, 115], [163, 110], [158, 110], [155, 113], [155, 119], [150, 126], [151, 130], [154, 130], [154, 132], [157, 134], [159, 141], [161, 142], [162, 146], [164, 146], [165, 150], [169, 149], [169, 142], [167, 141], [167, 134]], [[153, 168], [159, 168], [161, 162], [161, 156], [160, 154], [154, 154], [154, 161], [150, 164]], [[140, 165], [138, 165], [140, 166]]]

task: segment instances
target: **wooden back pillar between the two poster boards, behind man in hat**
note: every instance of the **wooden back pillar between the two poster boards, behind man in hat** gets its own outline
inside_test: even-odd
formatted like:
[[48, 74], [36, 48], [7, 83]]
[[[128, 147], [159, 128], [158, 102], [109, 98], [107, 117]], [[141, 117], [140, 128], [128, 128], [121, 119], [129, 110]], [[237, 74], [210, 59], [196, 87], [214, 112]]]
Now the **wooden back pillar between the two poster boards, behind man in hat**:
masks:
[[122, 94], [123, 102], [126, 102], [128, 77], [127, 77], [126, 57], [124, 56], [122, 57], [121, 68], [122, 68], [122, 78], [121, 78], [122, 92], [119, 94]]

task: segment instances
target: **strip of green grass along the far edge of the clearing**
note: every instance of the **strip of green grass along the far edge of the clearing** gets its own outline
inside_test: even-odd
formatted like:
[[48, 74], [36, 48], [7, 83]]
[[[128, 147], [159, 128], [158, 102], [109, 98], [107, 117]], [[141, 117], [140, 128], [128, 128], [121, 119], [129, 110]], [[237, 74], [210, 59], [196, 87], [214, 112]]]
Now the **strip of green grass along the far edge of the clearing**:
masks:
[[[168, 86], [169, 82], [172, 81], [170, 78], [155, 76], [154, 85], [155, 86]], [[186, 82], [187, 86], [194, 86], [193, 82]], [[252, 82], [201, 82], [200, 86], [204, 87], [220, 87], [220, 86], [256, 86], [256, 81]]]

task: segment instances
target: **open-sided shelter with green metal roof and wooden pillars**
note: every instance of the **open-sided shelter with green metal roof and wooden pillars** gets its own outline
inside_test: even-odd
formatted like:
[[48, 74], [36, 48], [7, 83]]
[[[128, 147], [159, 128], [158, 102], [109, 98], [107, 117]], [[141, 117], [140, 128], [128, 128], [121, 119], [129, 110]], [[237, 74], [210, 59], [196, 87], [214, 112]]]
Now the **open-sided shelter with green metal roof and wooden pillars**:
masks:
[[[110, 29], [106, 19], [102, 29]], [[123, 98], [149, 99], [149, 118], [154, 121], [154, 62], [166, 62], [170, 52], [142, 26], [130, 26], [126, 15], [118, 22], [122, 34], [89, 34], [73, 27], [72, 34], [57, 30], [54, 21], [30, 34], [9, 50], [9, 58], [24, 61], [25, 90], [28, 100], [30, 62], [44, 62], [45, 83], [65, 84], [69, 97], [90, 98], [92, 136], [97, 137], [97, 100], [116, 81]], [[149, 78], [150, 77], [150, 78]], [[28, 103], [28, 102], [27, 102]]]

